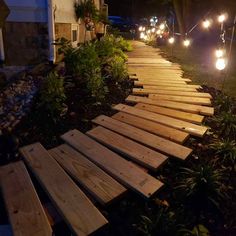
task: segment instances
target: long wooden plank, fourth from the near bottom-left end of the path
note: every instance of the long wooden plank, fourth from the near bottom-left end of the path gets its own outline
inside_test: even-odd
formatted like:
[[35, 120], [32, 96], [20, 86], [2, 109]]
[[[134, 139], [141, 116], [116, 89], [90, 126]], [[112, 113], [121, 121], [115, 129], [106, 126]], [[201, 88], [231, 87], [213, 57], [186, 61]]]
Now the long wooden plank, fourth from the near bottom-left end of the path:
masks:
[[61, 138], [122, 184], [146, 198], [152, 196], [163, 186], [162, 182], [148, 175], [135, 164], [125, 160], [78, 130], [71, 130], [62, 135]]

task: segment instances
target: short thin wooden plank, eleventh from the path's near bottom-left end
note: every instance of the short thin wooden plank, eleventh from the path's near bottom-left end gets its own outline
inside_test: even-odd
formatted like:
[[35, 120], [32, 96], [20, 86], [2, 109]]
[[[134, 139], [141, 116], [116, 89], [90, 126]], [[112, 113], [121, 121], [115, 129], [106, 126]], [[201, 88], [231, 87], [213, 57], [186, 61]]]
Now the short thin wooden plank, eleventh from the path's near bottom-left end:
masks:
[[149, 94], [148, 97], [153, 100], [167, 100], [174, 102], [184, 102], [195, 105], [211, 105], [211, 100], [209, 98], [199, 98], [199, 97], [184, 97], [184, 96], [174, 96], [174, 95], [159, 95], [159, 94]]

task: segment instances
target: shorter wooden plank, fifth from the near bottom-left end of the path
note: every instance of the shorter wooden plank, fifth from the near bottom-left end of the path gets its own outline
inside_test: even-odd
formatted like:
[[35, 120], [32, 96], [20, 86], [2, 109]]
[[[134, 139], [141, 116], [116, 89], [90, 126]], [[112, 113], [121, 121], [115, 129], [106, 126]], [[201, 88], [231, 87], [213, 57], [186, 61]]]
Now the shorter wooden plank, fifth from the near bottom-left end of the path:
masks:
[[114, 133], [104, 127], [98, 126], [86, 133], [95, 138], [105, 146], [117, 151], [134, 162], [156, 171], [168, 159], [167, 156], [153, 151], [139, 143], [136, 143], [124, 136]]

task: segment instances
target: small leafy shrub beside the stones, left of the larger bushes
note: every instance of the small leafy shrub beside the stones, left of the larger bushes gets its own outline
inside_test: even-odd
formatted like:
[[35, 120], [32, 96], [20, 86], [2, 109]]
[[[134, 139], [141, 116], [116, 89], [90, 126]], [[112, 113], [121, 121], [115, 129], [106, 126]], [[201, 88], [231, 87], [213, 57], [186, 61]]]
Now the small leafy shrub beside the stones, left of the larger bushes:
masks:
[[62, 77], [59, 77], [56, 72], [51, 72], [43, 81], [40, 91], [39, 107], [54, 121], [57, 121], [66, 111], [63, 83]]

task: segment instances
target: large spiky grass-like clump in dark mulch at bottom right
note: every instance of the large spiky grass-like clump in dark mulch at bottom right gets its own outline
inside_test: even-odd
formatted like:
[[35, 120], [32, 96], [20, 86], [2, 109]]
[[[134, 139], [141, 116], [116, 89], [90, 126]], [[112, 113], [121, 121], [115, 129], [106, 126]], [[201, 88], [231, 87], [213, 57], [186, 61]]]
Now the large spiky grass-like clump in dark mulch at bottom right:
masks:
[[219, 209], [219, 202], [228, 197], [224, 184], [226, 176], [224, 169], [211, 163], [200, 164], [193, 169], [181, 168], [175, 189], [197, 210], [204, 209], [208, 203]]

